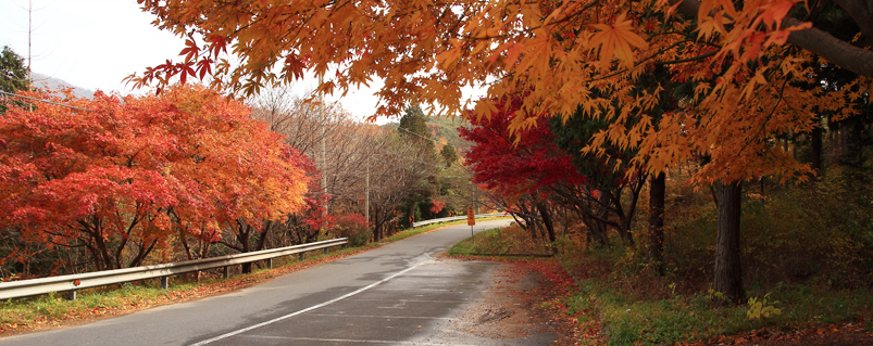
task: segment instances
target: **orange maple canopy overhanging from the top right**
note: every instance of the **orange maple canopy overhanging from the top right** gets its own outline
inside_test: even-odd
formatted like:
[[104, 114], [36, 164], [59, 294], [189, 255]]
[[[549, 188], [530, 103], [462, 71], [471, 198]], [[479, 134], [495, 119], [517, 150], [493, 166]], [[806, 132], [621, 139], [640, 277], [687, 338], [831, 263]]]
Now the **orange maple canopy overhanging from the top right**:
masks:
[[[148, 68], [132, 78], [138, 85], [214, 75], [214, 87], [253, 93], [312, 69], [326, 78], [321, 92], [346, 92], [378, 77], [381, 115], [399, 114], [408, 101], [460, 114], [461, 88], [483, 85], [477, 117], [498, 112], [496, 100], [523, 94], [523, 112], [509, 125], [522, 131], [581, 106], [610, 124], [586, 154], [633, 149], [629, 164], [654, 175], [708, 157], [693, 182], [720, 189], [764, 175], [807, 179], [809, 165], [773, 139], [813, 131], [822, 110], [834, 120], [856, 114], [844, 105], [858, 103], [873, 82], [873, 52], [864, 48], [873, 40], [869, 0], [139, 3], [158, 26], [188, 40], [182, 62]], [[845, 11], [825, 11], [834, 3]], [[843, 24], [830, 25], [834, 17]], [[827, 91], [799, 86], [822, 64], [857, 77]], [[694, 87], [681, 111], [656, 118], [663, 86], [640, 92], [636, 82], [663, 66]], [[738, 227], [724, 235], [737, 235]]]

